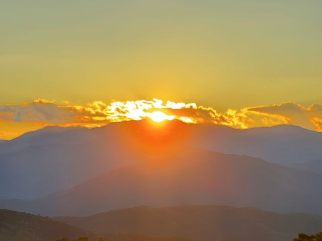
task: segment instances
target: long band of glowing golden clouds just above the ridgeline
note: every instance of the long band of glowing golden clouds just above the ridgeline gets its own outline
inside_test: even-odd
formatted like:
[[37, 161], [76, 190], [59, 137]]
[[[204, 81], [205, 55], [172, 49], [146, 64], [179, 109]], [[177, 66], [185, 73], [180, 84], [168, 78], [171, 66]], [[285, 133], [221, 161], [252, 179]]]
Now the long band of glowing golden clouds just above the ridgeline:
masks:
[[[21, 105], [0, 106], [0, 121], [12, 123], [32, 123], [34, 126], [82, 126], [101, 127], [110, 122], [139, 120], [155, 110], [174, 115], [186, 123], [215, 124], [247, 129], [282, 124], [292, 124], [315, 131], [322, 131], [322, 104], [314, 103], [304, 107], [294, 102], [273, 105], [228, 109], [218, 112], [212, 107], [162, 101], [159, 99], [136, 101], [93, 101], [85, 106], [58, 105], [54, 100], [35, 99]], [[6, 133], [2, 131], [2, 137]]]

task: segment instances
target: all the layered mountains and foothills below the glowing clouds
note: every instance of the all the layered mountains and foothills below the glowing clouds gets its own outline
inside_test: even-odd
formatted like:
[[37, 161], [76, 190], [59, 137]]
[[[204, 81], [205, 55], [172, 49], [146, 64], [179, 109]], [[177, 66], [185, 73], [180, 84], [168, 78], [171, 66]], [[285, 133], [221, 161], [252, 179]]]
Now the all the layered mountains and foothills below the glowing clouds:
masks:
[[0, 241], [60, 234], [286, 241], [315, 233], [322, 226], [321, 144], [322, 133], [295, 126], [237, 130], [179, 121], [30, 132], [0, 142]]

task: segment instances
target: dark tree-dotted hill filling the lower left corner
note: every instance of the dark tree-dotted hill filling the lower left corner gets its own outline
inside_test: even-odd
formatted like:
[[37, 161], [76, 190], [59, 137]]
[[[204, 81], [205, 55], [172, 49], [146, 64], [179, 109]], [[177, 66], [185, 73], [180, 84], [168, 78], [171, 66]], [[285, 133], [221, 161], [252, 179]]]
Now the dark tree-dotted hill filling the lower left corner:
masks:
[[82, 236], [96, 238], [92, 232], [49, 217], [0, 209], [1, 241], [54, 241]]

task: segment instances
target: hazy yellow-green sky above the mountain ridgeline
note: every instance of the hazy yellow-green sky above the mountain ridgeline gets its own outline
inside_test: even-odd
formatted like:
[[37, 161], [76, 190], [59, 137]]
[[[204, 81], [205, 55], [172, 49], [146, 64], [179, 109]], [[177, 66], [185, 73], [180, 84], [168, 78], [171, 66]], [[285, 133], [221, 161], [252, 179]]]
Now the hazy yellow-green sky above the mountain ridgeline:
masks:
[[[262, 118], [202, 122], [321, 129], [319, 0], [0, 3], [0, 139], [46, 125], [103, 125], [85, 109], [153, 98]], [[39, 117], [43, 108], [50, 117]], [[263, 121], [263, 110], [274, 120]]]

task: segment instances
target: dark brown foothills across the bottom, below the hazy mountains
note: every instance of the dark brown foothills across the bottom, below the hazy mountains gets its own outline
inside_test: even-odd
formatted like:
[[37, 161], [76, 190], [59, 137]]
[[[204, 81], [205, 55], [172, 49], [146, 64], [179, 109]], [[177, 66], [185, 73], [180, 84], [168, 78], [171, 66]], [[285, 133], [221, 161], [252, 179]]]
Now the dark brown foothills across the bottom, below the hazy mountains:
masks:
[[320, 231], [322, 216], [255, 207], [138, 206], [90, 216], [43, 217], [0, 209], [0, 240], [53, 241], [87, 236], [110, 241], [288, 241]]

